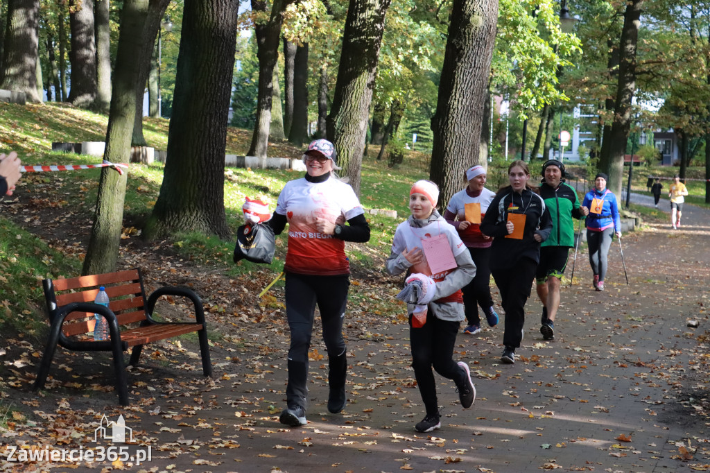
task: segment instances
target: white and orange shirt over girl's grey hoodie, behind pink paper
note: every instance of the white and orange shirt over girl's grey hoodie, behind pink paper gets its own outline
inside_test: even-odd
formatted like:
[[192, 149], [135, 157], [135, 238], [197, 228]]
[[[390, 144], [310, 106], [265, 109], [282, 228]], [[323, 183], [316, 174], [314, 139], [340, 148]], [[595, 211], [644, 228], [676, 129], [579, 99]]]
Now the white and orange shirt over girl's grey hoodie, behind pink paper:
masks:
[[[442, 217], [439, 217], [439, 219], [440, 220], [432, 222], [426, 227], [421, 228], [412, 227], [410, 225], [409, 219], [405, 220], [405, 222], [400, 223], [397, 226], [397, 230], [395, 231], [395, 237], [392, 241], [392, 253], [401, 254], [402, 251], [404, 251], [405, 249], [407, 251], [412, 251], [416, 247], [424, 251], [424, 247], [422, 246], [422, 240], [431, 237], [436, 237], [439, 234], [446, 235], [447, 239], [449, 240], [449, 246], [451, 247], [451, 251], [454, 254], [454, 258], [456, 256], [459, 256], [459, 254], [463, 253], [464, 251], [468, 251], [464, 242], [461, 241], [461, 237], [459, 237], [459, 233], [454, 228], [454, 226], [446, 222]], [[449, 273], [454, 271], [454, 269], [449, 269], [447, 271], [442, 271], [441, 273], [432, 274], [432, 271], [429, 268], [429, 264], [425, 259], [423, 263], [412, 266], [410, 268], [410, 273], [422, 273], [426, 276], [431, 276], [431, 278], [438, 283], [439, 281], [444, 281], [444, 278], [446, 278]], [[452, 295], [448, 295], [444, 298], [438, 299], [435, 302], [463, 303], [464, 299], [461, 290], [459, 289]]]

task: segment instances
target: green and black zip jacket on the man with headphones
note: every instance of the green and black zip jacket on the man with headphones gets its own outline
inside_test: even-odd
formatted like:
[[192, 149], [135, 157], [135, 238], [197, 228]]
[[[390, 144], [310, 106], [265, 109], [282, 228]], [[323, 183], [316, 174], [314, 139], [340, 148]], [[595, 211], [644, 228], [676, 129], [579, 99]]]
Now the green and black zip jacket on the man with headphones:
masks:
[[547, 211], [552, 219], [550, 238], [542, 242], [542, 246], [574, 246], [574, 222], [582, 218], [579, 212], [577, 192], [568, 184], [559, 183], [557, 189], [547, 183], [540, 184], [540, 197], [545, 200]]

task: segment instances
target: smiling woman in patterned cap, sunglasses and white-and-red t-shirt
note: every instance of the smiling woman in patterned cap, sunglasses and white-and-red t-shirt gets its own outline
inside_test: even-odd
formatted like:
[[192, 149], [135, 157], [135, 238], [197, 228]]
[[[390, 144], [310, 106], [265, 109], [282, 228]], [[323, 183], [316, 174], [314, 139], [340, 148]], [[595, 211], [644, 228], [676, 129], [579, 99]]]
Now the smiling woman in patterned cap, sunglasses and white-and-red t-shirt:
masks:
[[339, 413], [346, 403], [343, 322], [350, 268], [345, 241], [368, 241], [370, 227], [352, 187], [334, 175], [333, 170], [339, 169], [335, 158], [330, 141], [318, 139], [310, 143], [303, 155], [305, 177], [286, 183], [268, 222], [275, 234], [283, 232], [288, 222], [284, 272], [291, 341], [287, 408], [281, 413], [280, 422], [292, 427], [307, 423], [308, 350], [316, 304], [328, 351], [328, 411]]

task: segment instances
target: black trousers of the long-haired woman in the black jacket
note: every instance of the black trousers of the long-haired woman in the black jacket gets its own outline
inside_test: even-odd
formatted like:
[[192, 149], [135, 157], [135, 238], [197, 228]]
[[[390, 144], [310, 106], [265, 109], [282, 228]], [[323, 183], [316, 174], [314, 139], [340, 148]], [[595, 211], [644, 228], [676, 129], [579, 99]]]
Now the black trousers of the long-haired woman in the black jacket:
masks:
[[491, 270], [496, 286], [501, 291], [501, 305], [506, 311], [506, 329], [503, 332], [503, 344], [506, 347], [520, 347], [525, 325], [525, 303], [530, 297], [536, 269], [535, 260], [523, 258], [512, 268]]

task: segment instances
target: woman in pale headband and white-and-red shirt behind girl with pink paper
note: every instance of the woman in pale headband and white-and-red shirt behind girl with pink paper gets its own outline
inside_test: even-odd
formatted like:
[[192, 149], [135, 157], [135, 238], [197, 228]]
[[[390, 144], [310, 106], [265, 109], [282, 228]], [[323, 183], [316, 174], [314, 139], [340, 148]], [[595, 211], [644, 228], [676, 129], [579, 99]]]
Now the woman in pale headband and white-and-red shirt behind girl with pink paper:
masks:
[[[464, 178], [468, 185], [453, 195], [449, 200], [444, 219], [459, 232], [459, 237], [469, 249], [471, 259], [476, 264], [476, 277], [462, 289], [464, 293], [464, 312], [466, 328], [464, 333], [475, 335], [481, 332], [479, 308], [486, 314], [486, 321], [491, 327], [498, 325], [498, 313], [493, 308], [491, 297], [491, 243], [493, 239], [481, 233], [481, 220], [493, 202], [496, 193], [486, 189], [486, 169], [475, 165], [466, 170]], [[466, 212], [466, 209], [469, 212]], [[469, 219], [466, 219], [468, 214]]]

